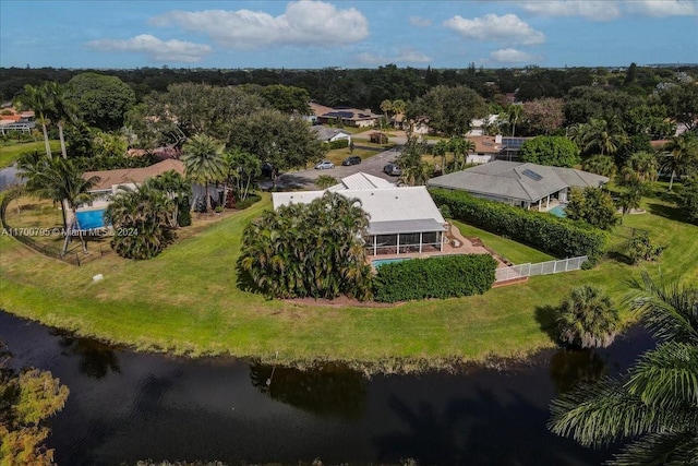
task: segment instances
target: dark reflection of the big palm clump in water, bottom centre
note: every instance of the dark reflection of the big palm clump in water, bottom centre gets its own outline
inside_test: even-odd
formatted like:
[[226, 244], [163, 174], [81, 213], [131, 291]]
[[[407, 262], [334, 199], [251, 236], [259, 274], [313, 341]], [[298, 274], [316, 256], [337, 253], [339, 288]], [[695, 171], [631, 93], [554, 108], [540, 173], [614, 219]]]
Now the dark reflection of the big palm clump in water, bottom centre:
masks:
[[270, 398], [322, 416], [357, 419], [363, 414], [368, 381], [342, 365], [309, 370], [250, 365], [252, 384]]

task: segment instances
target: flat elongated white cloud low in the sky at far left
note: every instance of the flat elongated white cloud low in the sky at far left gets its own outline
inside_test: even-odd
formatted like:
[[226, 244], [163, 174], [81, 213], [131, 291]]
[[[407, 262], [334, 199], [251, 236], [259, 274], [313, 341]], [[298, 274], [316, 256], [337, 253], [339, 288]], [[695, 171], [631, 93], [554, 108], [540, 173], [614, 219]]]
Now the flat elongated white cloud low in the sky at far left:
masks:
[[149, 34], [141, 34], [131, 39], [99, 39], [87, 43], [87, 47], [104, 51], [141, 52], [149, 56], [151, 60], [182, 61], [193, 63], [212, 51], [210, 46], [194, 44], [177, 39], [161, 40]]

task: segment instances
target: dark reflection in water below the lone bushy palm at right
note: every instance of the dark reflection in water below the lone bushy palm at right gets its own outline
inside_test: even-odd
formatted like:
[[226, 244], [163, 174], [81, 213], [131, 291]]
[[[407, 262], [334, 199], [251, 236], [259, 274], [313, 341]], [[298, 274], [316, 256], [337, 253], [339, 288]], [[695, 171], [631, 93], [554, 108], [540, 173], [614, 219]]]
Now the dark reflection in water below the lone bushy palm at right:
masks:
[[594, 382], [609, 373], [606, 361], [591, 349], [559, 349], [550, 359], [550, 379], [557, 393], [579, 382]]

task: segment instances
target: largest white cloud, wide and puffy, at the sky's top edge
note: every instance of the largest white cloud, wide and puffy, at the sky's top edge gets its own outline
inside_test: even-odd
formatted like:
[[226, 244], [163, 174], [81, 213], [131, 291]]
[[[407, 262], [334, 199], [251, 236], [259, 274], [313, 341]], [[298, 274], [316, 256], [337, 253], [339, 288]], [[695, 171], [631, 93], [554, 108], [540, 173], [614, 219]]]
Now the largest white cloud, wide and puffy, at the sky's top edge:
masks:
[[288, 3], [284, 14], [278, 16], [250, 10], [178, 10], [156, 16], [151, 22], [157, 26], [178, 25], [189, 32], [207, 34], [229, 49], [281, 45], [338, 46], [369, 36], [369, 22], [359, 10], [339, 10], [332, 3], [308, 0]]

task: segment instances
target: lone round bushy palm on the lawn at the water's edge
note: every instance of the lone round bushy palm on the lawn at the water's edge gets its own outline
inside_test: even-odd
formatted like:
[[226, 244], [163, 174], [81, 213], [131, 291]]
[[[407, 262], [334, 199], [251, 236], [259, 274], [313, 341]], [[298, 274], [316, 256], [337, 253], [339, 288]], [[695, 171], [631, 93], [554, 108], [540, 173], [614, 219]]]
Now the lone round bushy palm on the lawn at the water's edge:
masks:
[[555, 314], [559, 339], [581, 348], [611, 345], [621, 326], [611, 299], [589, 285], [573, 289]]

